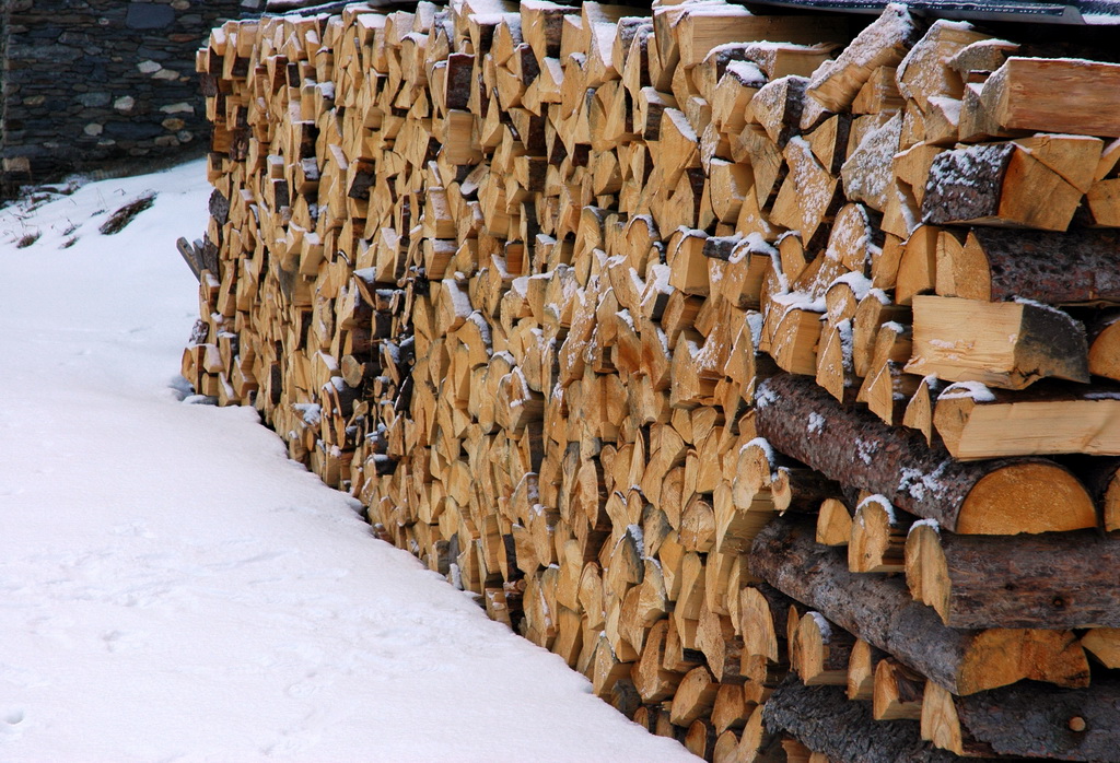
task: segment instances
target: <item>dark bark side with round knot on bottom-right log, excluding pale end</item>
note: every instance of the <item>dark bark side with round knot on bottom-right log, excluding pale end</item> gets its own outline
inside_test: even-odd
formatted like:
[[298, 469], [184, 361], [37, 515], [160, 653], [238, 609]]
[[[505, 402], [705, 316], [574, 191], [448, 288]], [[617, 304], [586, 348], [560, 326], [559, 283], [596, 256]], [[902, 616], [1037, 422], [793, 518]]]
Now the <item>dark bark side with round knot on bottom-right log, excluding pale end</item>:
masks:
[[962, 731], [1001, 755], [1101, 763], [1120, 756], [1120, 681], [1040, 689], [1009, 686], [954, 697]]

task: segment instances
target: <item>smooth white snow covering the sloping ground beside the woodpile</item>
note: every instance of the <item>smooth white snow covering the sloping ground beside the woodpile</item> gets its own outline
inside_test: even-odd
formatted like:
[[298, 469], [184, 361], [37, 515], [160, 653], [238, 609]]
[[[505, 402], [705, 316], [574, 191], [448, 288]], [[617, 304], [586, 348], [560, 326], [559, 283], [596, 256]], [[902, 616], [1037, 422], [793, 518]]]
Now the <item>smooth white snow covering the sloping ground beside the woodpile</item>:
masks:
[[371, 537], [252, 409], [180, 402], [174, 242], [208, 192], [193, 162], [0, 211], [0, 760], [696, 760]]

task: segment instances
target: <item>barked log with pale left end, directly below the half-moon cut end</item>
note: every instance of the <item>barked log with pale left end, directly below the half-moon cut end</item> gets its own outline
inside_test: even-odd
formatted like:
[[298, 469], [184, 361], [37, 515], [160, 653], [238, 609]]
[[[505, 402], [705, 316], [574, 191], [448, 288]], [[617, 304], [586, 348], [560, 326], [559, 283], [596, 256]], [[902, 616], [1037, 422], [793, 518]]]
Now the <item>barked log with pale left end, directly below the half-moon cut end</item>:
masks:
[[951, 628], [1120, 627], [1120, 539], [1092, 530], [984, 538], [915, 526], [906, 580]]

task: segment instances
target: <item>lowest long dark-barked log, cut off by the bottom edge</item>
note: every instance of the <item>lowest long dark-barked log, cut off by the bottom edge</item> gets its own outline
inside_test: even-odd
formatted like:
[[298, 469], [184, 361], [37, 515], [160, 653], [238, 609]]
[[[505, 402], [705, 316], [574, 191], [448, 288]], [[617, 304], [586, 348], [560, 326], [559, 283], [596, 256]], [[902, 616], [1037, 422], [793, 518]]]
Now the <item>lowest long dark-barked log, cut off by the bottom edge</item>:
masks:
[[833, 763], [949, 763], [955, 755], [918, 737], [917, 724], [875, 720], [868, 703], [848, 701], [842, 688], [802, 686], [786, 678], [763, 706], [772, 734], [785, 732]]

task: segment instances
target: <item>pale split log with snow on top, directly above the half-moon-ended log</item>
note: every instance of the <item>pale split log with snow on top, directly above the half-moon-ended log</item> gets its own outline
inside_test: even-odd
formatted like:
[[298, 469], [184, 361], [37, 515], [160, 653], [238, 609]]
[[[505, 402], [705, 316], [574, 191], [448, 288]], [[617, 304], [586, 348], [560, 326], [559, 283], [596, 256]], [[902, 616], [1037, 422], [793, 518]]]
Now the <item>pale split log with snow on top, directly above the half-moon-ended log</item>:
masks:
[[1120, 455], [1120, 389], [1039, 383], [1008, 393], [952, 384], [933, 423], [961, 461], [1044, 453]]

